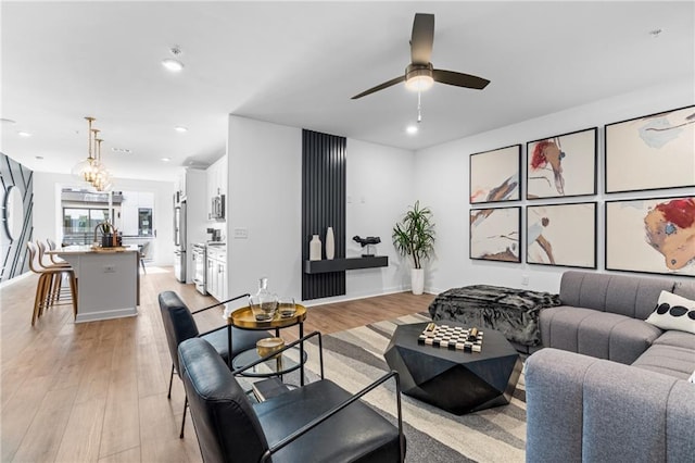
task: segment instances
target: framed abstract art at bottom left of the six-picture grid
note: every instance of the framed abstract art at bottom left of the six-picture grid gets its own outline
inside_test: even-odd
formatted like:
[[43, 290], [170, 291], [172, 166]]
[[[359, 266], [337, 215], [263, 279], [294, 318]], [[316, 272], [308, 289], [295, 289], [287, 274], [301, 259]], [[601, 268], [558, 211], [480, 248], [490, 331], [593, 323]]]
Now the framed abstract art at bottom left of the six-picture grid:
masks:
[[470, 210], [470, 259], [521, 262], [521, 208]]

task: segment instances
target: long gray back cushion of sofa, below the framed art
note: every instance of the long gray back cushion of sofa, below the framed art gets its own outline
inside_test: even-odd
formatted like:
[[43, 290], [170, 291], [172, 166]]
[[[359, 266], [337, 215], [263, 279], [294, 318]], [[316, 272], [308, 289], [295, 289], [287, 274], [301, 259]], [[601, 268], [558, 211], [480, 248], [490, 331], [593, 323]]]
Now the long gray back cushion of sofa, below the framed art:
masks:
[[612, 312], [645, 320], [661, 290], [672, 291], [668, 279], [569, 271], [560, 280], [564, 305]]

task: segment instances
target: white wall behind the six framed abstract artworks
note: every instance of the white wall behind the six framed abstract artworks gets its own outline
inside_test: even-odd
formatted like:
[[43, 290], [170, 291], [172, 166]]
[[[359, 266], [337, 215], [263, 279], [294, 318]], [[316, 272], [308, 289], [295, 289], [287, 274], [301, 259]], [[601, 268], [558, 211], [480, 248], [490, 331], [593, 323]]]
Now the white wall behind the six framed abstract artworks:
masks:
[[[528, 275], [530, 289], [556, 292], [559, 290], [560, 275], [567, 270], [566, 267], [528, 265], [526, 263], [472, 261], [468, 258], [468, 211], [470, 209], [468, 171], [471, 153], [521, 143], [522, 159], [526, 160], [527, 141], [597, 126], [597, 190], [599, 193], [572, 198], [568, 202], [598, 201], [597, 268], [601, 271], [604, 266], [604, 209], [602, 200], [605, 198], [601, 193], [604, 189], [603, 125], [690, 105], [694, 101], [695, 87], [692, 82], [664, 83], [654, 88], [616, 96], [418, 151], [415, 160], [416, 190], [421, 201], [431, 207], [437, 223], [437, 259], [431, 262], [427, 272], [426, 290], [437, 293], [452, 287], [471, 284], [520, 287], [522, 276]], [[498, 108], [497, 111], [504, 111], [504, 108]], [[526, 168], [525, 164], [526, 162], [522, 162]], [[520, 178], [526, 184], [526, 170], [521, 172]], [[692, 195], [694, 189], [610, 195], [610, 198], [675, 196], [685, 191]], [[523, 198], [525, 195], [526, 186], [521, 197]], [[527, 201], [517, 201], [504, 205], [525, 205], [527, 203]], [[541, 204], [543, 202], [533, 201], [532, 203]], [[523, 215], [522, 213], [522, 230], [526, 229]], [[526, 253], [526, 246], [522, 246], [522, 253]], [[522, 259], [522, 261], [525, 260]]]

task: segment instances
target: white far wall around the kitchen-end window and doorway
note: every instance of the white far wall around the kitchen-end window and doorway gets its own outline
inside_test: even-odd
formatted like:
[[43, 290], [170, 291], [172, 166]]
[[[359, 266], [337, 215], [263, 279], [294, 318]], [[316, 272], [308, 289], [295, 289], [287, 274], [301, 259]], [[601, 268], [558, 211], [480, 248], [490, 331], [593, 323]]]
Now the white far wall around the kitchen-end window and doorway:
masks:
[[[174, 212], [172, 198], [174, 179], [168, 182], [150, 182], [117, 178], [116, 190], [146, 191], [154, 195], [154, 229], [156, 246], [151, 253], [154, 265], [174, 264], [174, 235], [172, 224]], [[35, 239], [53, 238], [62, 235], [61, 189], [64, 187], [85, 187], [75, 176], [66, 174], [34, 173], [34, 237]]]

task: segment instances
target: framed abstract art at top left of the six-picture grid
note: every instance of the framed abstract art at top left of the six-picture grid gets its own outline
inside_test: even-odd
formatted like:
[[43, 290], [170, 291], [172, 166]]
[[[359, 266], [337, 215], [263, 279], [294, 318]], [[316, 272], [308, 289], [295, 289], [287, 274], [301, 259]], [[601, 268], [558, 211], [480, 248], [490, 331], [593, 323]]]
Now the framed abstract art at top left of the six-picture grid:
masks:
[[521, 199], [521, 145], [470, 155], [470, 203]]

